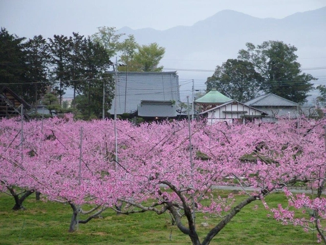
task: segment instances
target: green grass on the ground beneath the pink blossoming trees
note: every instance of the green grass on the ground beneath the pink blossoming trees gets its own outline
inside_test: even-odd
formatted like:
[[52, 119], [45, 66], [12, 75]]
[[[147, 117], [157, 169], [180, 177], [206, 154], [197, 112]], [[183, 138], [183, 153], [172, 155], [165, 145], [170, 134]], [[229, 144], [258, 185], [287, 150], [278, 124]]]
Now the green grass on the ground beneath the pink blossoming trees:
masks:
[[[285, 204], [286, 197], [282, 193], [273, 194], [266, 201], [276, 206], [280, 202]], [[256, 204], [259, 208], [253, 210]], [[152, 212], [117, 216], [107, 210], [103, 213], [103, 219], [80, 224], [76, 232], [68, 233], [71, 217], [69, 205], [36, 201], [34, 196], [25, 201], [26, 210], [13, 211], [13, 205], [12, 197], [0, 194], [1, 245], [191, 245], [190, 238], [171, 225], [168, 213], [160, 216]], [[316, 233], [305, 233], [301, 227], [292, 225], [284, 226], [273, 218], [267, 218], [267, 214], [260, 201], [247, 205], [211, 244], [317, 244]], [[201, 240], [209, 231], [209, 228], [200, 226], [204, 221], [208, 222], [209, 228], [213, 228], [218, 219], [205, 220], [201, 214], [197, 214], [197, 230]]]

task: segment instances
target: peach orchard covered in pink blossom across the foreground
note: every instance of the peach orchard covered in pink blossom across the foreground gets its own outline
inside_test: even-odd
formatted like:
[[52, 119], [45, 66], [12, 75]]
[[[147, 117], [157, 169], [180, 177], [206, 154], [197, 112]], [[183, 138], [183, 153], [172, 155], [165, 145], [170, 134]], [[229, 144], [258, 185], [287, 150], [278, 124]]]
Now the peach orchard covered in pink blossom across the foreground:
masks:
[[[325, 120], [188, 123], [134, 126], [118, 120], [115, 138], [111, 120], [2, 119], [0, 191], [13, 196], [14, 209], [22, 209], [34, 192], [68, 203], [71, 232], [108, 208], [122, 214], [169, 212], [194, 245], [208, 245], [243, 207], [261, 201], [276, 220], [317, 230], [316, 239], [326, 243]], [[214, 187], [230, 181], [245, 199], [214, 195]], [[291, 193], [288, 187], [296, 183], [314, 195]], [[264, 197], [280, 190], [288, 205], [270, 208]], [[92, 208], [84, 210], [84, 204]], [[203, 238], [196, 232], [197, 212], [220, 217]], [[79, 220], [79, 213], [89, 217]]]

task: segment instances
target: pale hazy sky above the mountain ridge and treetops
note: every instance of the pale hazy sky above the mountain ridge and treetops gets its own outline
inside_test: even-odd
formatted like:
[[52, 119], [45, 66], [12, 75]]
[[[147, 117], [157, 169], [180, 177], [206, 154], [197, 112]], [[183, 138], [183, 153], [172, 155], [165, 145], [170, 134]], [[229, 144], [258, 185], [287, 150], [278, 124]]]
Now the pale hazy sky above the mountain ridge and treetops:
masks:
[[326, 6], [326, 0], [0, 0], [0, 26], [20, 37], [52, 37], [98, 26], [152, 27], [193, 25], [224, 9], [259, 18], [284, 18]]

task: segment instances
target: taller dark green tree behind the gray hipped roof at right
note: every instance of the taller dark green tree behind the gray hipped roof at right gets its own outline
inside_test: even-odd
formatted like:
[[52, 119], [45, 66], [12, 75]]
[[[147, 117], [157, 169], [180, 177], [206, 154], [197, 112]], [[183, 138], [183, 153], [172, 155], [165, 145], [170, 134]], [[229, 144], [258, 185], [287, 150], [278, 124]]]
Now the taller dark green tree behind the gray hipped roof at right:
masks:
[[304, 103], [313, 89], [312, 75], [301, 73], [297, 48], [281, 41], [265, 41], [257, 47], [246, 44], [239, 50], [238, 59], [252, 62], [256, 71], [264, 78], [261, 89], [297, 103]]

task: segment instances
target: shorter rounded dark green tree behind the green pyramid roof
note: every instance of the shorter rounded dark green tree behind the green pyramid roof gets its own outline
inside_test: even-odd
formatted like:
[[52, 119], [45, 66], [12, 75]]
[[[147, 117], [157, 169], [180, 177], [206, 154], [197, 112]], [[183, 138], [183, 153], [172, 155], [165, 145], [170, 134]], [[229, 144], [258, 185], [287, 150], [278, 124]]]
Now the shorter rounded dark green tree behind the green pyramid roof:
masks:
[[216, 88], [222, 94], [240, 102], [257, 97], [263, 78], [249, 61], [228, 59], [217, 66], [205, 82], [207, 90]]

